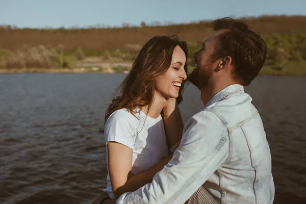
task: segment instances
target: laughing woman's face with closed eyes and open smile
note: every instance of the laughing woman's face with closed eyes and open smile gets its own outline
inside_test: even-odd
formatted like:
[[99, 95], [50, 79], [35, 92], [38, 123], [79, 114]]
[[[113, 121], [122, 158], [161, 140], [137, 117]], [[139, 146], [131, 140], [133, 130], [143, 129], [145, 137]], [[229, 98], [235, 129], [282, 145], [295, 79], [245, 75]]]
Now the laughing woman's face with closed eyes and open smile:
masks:
[[[184, 80], [187, 78], [184, 65], [186, 55], [180, 46], [173, 50], [171, 65], [167, 71], [155, 80], [155, 93], [168, 98], [177, 98]], [[157, 95], [156, 95], [157, 96]]]

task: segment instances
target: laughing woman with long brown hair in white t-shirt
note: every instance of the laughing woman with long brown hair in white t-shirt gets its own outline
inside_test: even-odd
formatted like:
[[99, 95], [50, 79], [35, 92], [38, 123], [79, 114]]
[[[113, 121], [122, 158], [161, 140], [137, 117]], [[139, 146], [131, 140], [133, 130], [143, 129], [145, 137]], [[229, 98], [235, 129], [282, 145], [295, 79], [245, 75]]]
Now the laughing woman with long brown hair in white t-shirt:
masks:
[[[186, 42], [177, 37], [156, 36], [140, 50], [116, 90], [121, 90], [121, 95], [106, 111], [108, 184], [93, 203], [108, 203], [150, 183], [171, 160], [169, 150], [175, 150], [183, 130], [171, 129], [161, 113], [168, 118], [182, 101], [187, 56]], [[177, 121], [183, 127], [180, 123]]]

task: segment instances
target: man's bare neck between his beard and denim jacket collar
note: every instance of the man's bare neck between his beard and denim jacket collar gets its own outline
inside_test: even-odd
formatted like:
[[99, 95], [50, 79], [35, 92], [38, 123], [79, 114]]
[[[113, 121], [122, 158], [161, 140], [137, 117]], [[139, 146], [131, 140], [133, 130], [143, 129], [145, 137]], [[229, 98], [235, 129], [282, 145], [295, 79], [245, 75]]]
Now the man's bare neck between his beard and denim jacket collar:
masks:
[[201, 100], [205, 106], [219, 91], [232, 85], [238, 84], [237, 82], [228, 82], [228, 83], [210, 83], [206, 87], [201, 88]]

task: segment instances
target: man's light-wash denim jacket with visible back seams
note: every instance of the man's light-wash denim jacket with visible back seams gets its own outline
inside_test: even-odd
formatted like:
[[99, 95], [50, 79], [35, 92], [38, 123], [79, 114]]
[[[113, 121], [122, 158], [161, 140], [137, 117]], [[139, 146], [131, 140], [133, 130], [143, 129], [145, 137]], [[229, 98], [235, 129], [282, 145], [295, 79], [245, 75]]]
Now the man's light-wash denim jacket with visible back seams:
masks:
[[220, 203], [273, 203], [270, 148], [251, 100], [238, 84], [218, 92], [153, 181], [117, 203], [184, 203], [203, 184]]

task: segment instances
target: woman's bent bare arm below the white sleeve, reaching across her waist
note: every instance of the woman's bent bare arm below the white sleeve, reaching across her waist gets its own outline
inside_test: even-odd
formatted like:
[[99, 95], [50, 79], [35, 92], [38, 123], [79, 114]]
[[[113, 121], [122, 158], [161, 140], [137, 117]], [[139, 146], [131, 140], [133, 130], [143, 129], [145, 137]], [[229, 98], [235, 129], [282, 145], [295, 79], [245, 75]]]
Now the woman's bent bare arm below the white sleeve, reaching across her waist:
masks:
[[154, 175], [163, 169], [171, 160], [172, 155], [159, 162], [155, 166], [132, 176], [133, 150], [117, 142], [108, 142], [108, 168], [114, 196], [118, 198], [121, 194], [136, 191], [147, 183], [150, 183]]

